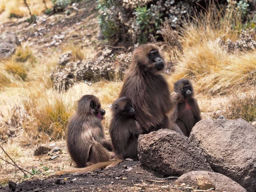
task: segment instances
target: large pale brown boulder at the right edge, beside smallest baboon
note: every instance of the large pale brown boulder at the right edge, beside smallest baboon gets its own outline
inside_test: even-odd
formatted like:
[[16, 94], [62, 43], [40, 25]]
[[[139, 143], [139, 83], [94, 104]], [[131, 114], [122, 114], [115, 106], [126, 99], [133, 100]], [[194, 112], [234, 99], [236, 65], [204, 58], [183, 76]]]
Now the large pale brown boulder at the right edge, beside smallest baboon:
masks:
[[230, 177], [248, 192], [256, 191], [256, 129], [243, 119], [207, 119], [192, 129], [189, 140], [214, 172]]

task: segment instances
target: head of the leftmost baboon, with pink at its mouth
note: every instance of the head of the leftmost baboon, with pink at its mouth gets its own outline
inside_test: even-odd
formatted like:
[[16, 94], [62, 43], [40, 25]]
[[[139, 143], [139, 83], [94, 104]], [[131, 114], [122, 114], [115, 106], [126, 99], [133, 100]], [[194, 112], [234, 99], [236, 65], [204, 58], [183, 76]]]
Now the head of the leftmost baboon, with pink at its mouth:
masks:
[[101, 108], [99, 99], [93, 95], [84, 95], [78, 102], [77, 112], [80, 115], [95, 115], [104, 119], [105, 110]]

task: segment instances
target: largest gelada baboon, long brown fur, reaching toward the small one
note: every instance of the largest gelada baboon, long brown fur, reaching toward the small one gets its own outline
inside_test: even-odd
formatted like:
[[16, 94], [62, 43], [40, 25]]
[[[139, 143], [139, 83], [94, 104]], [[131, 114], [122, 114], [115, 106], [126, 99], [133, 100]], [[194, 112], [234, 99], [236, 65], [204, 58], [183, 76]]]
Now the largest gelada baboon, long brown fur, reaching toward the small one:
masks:
[[[133, 61], [125, 74], [120, 97], [131, 99], [135, 119], [141, 125], [143, 133], [161, 128], [175, 129], [166, 114], [177, 102], [183, 100], [181, 94], [170, 94], [169, 84], [160, 73], [165, 67], [163, 54], [154, 44], [137, 47]], [[177, 130], [182, 134], [182, 131]]]

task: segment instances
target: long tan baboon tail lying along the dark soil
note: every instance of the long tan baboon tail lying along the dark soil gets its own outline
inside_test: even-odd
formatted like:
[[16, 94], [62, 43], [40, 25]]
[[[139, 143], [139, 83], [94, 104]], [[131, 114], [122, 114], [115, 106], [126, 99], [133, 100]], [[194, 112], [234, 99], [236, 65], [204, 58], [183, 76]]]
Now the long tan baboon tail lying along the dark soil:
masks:
[[102, 169], [102, 168], [110, 168], [110, 167], [115, 167], [118, 166], [119, 163], [121, 163], [123, 160], [114, 160], [114, 161], [107, 161], [107, 162], [101, 162], [101, 163], [96, 163], [84, 168], [72, 168], [70, 167], [69, 169], [64, 169], [60, 170], [55, 173], [55, 175], [62, 175], [65, 173], [85, 173], [85, 172], [93, 172], [95, 169]]

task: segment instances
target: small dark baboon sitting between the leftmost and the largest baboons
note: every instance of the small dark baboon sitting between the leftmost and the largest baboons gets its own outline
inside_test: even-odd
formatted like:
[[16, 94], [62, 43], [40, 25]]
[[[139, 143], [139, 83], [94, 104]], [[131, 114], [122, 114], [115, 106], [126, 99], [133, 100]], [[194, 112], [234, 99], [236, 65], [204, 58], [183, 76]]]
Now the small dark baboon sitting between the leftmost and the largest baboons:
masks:
[[121, 97], [112, 104], [112, 119], [109, 134], [118, 159], [137, 157], [138, 137], [142, 133], [134, 119], [135, 111], [131, 99]]

